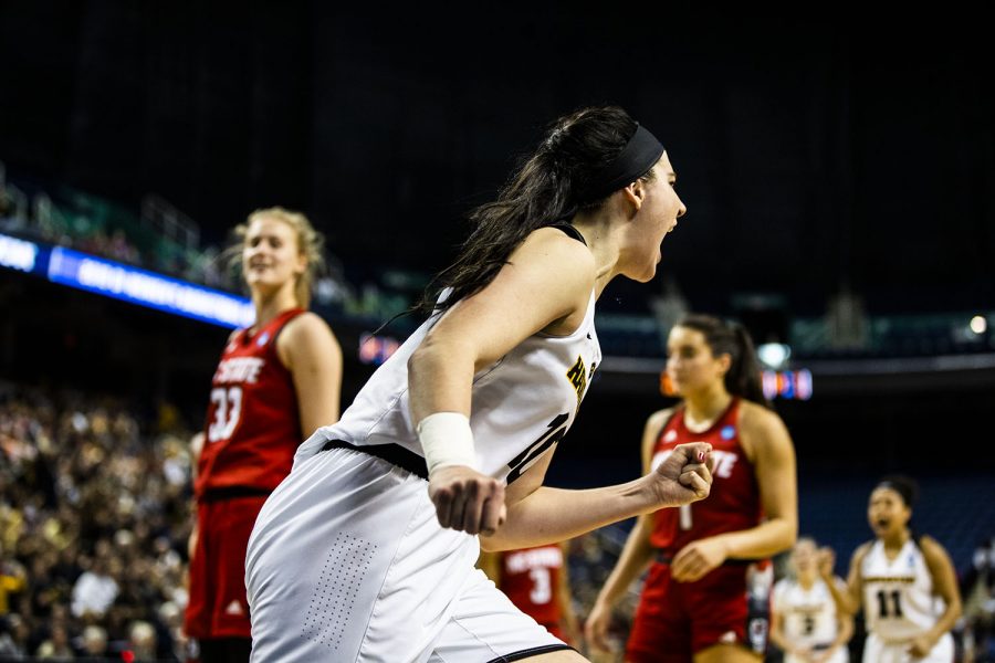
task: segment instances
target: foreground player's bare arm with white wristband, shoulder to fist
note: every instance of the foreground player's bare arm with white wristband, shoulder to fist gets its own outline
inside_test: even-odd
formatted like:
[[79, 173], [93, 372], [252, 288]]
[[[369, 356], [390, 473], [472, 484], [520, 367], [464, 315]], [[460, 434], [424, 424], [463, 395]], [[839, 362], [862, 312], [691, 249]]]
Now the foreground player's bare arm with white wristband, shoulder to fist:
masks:
[[447, 311], [411, 354], [411, 420], [429, 465], [429, 495], [443, 527], [476, 534], [496, 529], [504, 519], [503, 485], [472, 466], [473, 376], [538, 332], [575, 330], [594, 283], [590, 251], [558, 230], [540, 229], [491, 283]]

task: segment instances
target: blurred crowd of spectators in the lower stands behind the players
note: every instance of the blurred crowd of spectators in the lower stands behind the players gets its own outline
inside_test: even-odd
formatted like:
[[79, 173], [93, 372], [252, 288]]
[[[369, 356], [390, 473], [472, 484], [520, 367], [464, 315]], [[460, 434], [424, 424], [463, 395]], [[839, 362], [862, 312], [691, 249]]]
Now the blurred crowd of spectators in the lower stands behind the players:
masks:
[[[182, 661], [190, 434], [168, 404], [0, 383], [0, 661]], [[570, 543], [582, 619], [625, 536]], [[959, 569], [960, 650], [995, 661], [995, 538], [973, 561]], [[638, 589], [618, 611], [619, 645]]]

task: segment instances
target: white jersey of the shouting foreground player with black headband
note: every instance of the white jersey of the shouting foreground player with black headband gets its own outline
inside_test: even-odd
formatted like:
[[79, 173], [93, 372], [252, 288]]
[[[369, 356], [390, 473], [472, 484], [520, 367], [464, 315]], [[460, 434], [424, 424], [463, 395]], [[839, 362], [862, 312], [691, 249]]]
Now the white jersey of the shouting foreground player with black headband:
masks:
[[[473, 377], [470, 428], [480, 472], [511, 483], [569, 429], [601, 361], [594, 315], [591, 292], [576, 332], [532, 336]], [[425, 455], [408, 406], [408, 359], [439, 317], [436, 313], [416, 329], [374, 372], [342, 419], [318, 429], [297, 457], [316, 453], [328, 440], [357, 446], [394, 443]]]

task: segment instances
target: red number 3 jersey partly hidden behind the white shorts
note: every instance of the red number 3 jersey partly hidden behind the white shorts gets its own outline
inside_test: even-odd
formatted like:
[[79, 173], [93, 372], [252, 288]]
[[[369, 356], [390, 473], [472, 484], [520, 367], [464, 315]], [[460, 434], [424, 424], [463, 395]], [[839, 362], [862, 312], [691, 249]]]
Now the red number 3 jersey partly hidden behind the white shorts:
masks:
[[501, 590], [538, 623], [558, 624], [556, 589], [564, 564], [563, 549], [556, 544], [502, 552]]

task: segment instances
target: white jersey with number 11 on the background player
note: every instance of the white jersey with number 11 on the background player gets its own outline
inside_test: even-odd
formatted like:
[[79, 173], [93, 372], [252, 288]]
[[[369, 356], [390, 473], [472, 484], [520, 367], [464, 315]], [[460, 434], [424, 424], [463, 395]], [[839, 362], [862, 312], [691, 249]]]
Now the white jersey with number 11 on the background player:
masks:
[[867, 630], [884, 640], [914, 638], [943, 614], [925, 557], [912, 539], [894, 559], [888, 559], [884, 544], [874, 541], [861, 561], [860, 576]]

